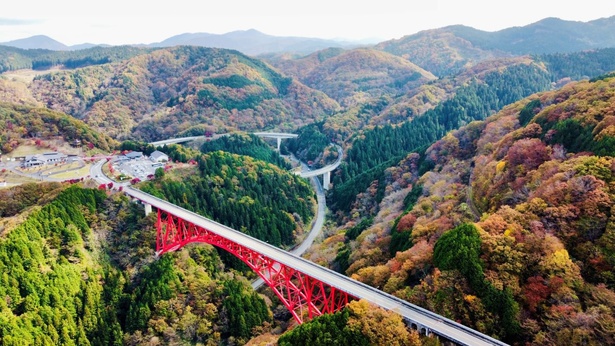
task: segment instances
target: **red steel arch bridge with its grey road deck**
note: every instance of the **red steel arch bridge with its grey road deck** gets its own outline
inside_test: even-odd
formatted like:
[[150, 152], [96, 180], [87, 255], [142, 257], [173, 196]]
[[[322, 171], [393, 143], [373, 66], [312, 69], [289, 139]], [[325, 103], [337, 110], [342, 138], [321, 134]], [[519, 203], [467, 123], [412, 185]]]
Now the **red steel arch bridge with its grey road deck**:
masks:
[[406, 323], [421, 333], [435, 334], [459, 345], [506, 345], [455, 321], [150, 194], [131, 187], [126, 187], [123, 191], [141, 201], [146, 213], [156, 208], [158, 255], [195, 242], [222, 248], [254, 270], [275, 292], [298, 323], [341, 310], [349, 300], [365, 299], [401, 314]]

